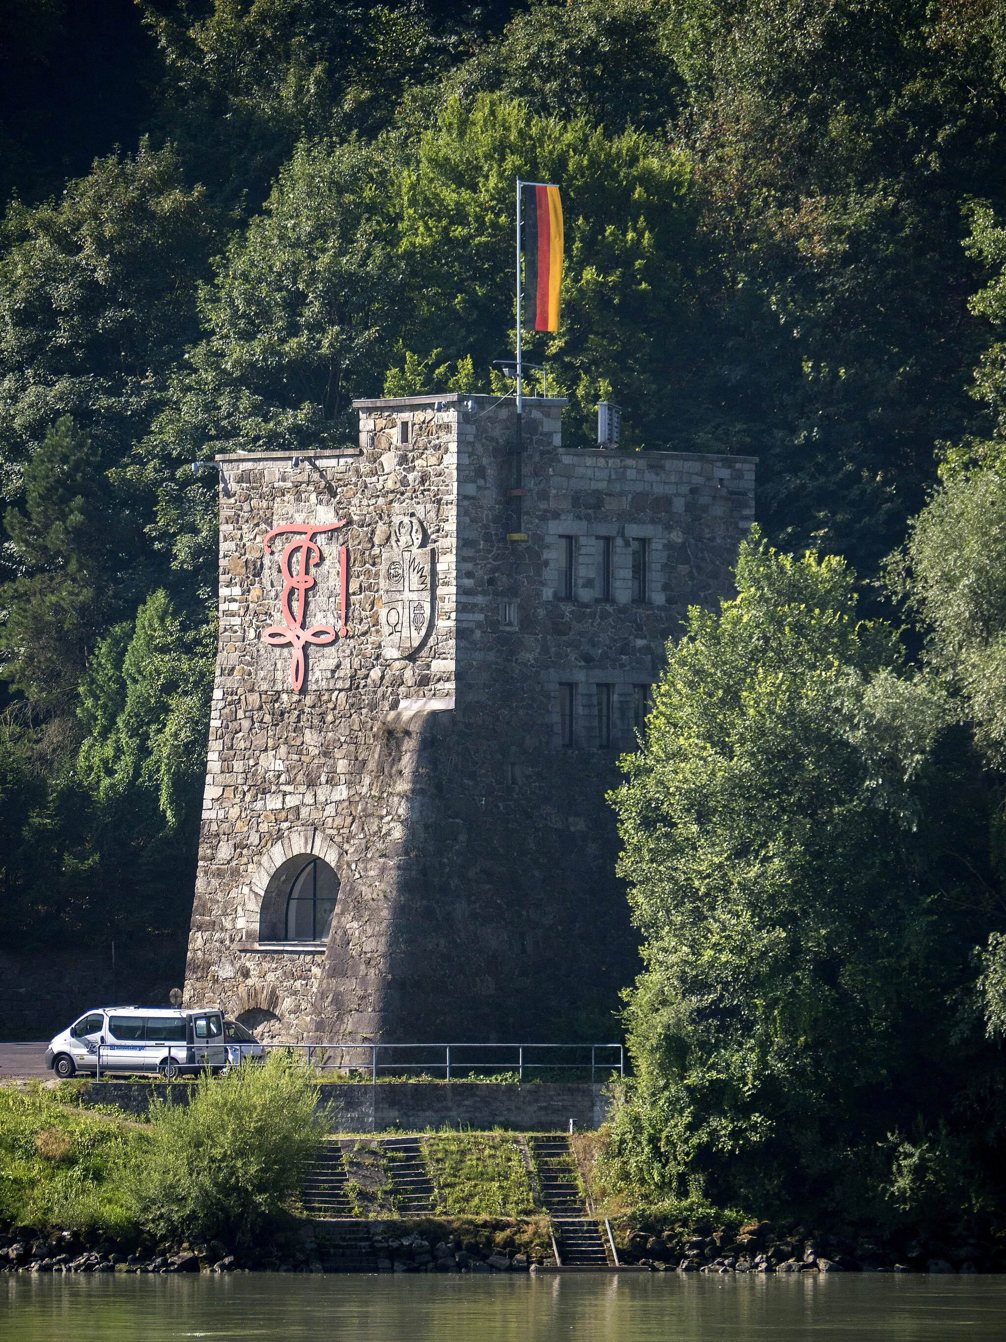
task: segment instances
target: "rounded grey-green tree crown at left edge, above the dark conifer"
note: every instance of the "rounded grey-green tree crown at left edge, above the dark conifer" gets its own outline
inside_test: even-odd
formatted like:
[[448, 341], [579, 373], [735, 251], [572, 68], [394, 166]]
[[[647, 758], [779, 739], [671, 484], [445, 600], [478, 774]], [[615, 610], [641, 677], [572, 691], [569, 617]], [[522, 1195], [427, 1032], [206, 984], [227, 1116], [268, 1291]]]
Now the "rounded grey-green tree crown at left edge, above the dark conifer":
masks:
[[[97, 160], [58, 203], [15, 203], [0, 255], [0, 456], [17, 467], [62, 415], [125, 458], [160, 380], [196, 338], [217, 216], [177, 154]], [[9, 487], [9, 486], [8, 486]]]

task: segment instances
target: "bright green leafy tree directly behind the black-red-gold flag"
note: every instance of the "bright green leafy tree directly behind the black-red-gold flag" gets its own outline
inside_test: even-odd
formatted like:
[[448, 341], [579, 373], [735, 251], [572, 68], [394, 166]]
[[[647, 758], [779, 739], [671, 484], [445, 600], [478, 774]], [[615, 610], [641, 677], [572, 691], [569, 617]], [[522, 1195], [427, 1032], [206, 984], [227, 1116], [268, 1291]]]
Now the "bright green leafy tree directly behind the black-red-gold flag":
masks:
[[626, 443], [679, 446], [693, 427], [688, 374], [695, 239], [687, 161], [636, 132], [535, 117], [483, 95], [451, 101], [401, 176], [401, 242], [412, 301], [402, 340], [471, 357], [476, 376], [514, 348], [514, 183], [562, 184], [566, 263], [557, 336], [528, 333], [566, 433], [592, 440], [597, 400], [625, 400]]

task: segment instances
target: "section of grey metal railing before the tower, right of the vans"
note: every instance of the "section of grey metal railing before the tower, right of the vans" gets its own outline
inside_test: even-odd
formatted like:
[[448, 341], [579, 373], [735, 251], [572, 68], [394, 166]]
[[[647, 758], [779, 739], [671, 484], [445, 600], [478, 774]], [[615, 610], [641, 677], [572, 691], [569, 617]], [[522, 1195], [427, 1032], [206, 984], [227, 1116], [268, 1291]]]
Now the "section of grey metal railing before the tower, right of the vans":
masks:
[[[420, 1072], [445, 1080], [464, 1074], [516, 1072], [518, 1080], [542, 1072], [598, 1072], [609, 1079], [625, 1076], [621, 1044], [267, 1044], [266, 1048], [302, 1049], [310, 1066], [321, 1071], [369, 1072], [378, 1076]], [[557, 1055], [574, 1055], [554, 1062]], [[578, 1057], [575, 1055], [579, 1055]], [[349, 1055], [349, 1056], [346, 1056]], [[423, 1056], [418, 1056], [423, 1055]], [[486, 1055], [490, 1055], [488, 1057]], [[503, 1056], [506, 1055], [506, 1056]], [[589, 1055], [589, 1060], [588, 1060]]]

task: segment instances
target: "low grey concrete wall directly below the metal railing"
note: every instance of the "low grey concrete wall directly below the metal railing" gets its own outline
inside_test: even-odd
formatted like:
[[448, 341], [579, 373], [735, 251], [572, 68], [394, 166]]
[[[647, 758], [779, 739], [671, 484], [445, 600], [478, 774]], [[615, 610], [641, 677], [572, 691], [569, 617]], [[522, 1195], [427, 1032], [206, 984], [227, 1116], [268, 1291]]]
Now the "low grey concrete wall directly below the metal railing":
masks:
[[[83, 1082], [82, 1104], [118, 1104], [142, 1117], [150, 1100], [186, 1104], [185, 1082]], [[504, 1127], [516, 1133], [565, 1133], [569, 1121], [579, 1130], [596, 1129], [608, 1117], [602, 1086], [528, 1082], [323, 1082], [321, 1103], [331, 1114], [333, 1133], [421, 1133], [427, 1127]]]

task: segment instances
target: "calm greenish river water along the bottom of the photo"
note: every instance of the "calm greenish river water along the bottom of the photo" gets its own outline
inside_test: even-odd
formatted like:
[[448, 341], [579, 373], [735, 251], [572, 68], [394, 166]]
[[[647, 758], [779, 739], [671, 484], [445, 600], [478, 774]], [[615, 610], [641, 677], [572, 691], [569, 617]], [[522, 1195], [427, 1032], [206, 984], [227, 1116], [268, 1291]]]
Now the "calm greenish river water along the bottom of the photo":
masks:
[[1003, 1342], [1006, 1276], [0, 1278], [3, 1342]]

